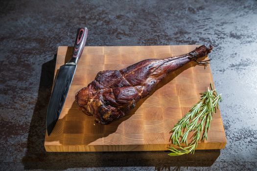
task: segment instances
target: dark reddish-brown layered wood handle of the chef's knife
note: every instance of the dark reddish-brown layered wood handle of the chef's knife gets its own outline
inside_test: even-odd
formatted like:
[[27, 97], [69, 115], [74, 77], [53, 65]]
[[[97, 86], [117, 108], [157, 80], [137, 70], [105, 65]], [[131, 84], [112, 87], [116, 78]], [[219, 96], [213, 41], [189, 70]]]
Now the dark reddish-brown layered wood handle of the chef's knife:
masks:
[[71, 59], [68, 64], [77, 64], [83, 52], [87, 41], [88, 29], [86, 27], [78, 28], [76, 40], [73, 47]]

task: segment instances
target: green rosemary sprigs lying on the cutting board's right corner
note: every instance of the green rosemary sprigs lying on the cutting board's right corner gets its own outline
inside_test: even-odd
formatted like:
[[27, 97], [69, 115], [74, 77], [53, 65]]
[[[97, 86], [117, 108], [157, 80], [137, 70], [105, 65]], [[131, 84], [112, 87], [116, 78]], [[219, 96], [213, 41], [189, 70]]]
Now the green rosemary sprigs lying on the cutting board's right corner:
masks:
[[[213, 90], [210, 84], [210, 89], [201, 93], [200, 101], [195, 104], [187, 114], [172, 128], [170, 131], [170, 141], [172, 144], [179, 146], [176, 149], [169, 146], [171, 151], [169, 156], [177, 156], [188, 153], [194, 153], [197, 148], [199, 141], [207, 140], [207, 133], [210, 129], [210, 122], [212, 120], [212, 114], [216, 112], [216, 108], [219, 107], [218, 102], [221, 101], [221, 94], [217, 95], [216, 90]], [[184, 132], [182, 131], [184, 130]], [[187, 137], [189, 132], [194, 132], [192, 136], [192, 141], [188, 145]], [[202, 138], [200, 137], [203, 131]], [[180, 146], [181, 144], [186, 144], [185, 147]]]

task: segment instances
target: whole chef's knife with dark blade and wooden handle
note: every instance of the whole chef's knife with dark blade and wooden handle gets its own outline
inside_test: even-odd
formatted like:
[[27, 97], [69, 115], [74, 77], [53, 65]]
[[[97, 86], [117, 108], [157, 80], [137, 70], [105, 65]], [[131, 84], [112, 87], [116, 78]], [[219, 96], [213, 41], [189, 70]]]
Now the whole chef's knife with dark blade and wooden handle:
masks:
[[66, 96], [70, 89], [78, 60], [84, 49], [88, 35], [88, 29], [78, 28], [73, 53], [70, 61], [62, 65], [55, 79], [54, 87], [47, 108], [47, 135], [52, 132], [62, 111]]

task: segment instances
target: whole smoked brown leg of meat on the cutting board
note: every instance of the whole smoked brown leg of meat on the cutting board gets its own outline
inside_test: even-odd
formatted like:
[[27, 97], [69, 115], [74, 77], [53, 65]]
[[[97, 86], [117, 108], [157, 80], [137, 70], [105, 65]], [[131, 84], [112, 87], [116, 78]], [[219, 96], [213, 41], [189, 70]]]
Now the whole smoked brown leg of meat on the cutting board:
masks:
[[121, 70], [98, 72], [92, 83], [76, 93], [76, 102], [96, 122], [109, 124], [134, 108], [169, 72], [206, 56], [211, 49], [211, 45], [202, 45], [185, 55], [147, 59]]

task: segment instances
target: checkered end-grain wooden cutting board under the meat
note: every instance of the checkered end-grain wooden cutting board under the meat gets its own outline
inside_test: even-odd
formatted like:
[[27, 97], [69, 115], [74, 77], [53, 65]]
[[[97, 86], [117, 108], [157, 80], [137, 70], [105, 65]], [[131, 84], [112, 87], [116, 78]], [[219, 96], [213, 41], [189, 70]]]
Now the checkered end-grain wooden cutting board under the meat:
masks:
[[[51, 135], [46, 135], [46, 150], [167, 150], [171, 128], [199, 101], [199, 93], [213, 84], [210, 66], [205, 68], [191, 62], [170, 73], [150, 96], [140, 100], [125, 117], [110, 125], [94, 125], [94, 118], [84, 114], [75, 104], [75, 93], [91, 83], [99, 71], [121, 69], [148, 58], [186, 54], [197, 46], [86, 46], [59, 120]], [[55, 74], [70, 59], [71, 53], [72, 47], [58, 48]], [[208, 141], [200, 143], [197, 149], [223, 149], [225, 145], [224, 127], [217, 110]]]

